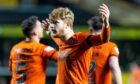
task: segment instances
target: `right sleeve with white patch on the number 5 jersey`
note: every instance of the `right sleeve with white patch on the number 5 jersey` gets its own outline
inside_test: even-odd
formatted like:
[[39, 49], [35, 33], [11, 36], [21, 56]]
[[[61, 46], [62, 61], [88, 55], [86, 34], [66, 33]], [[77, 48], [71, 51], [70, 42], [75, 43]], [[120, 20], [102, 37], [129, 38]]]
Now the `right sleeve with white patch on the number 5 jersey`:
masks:
[[45, 46], [43, 48], [43, 57], [50, 60], [57, 61], [58, 52], [51, 46]]

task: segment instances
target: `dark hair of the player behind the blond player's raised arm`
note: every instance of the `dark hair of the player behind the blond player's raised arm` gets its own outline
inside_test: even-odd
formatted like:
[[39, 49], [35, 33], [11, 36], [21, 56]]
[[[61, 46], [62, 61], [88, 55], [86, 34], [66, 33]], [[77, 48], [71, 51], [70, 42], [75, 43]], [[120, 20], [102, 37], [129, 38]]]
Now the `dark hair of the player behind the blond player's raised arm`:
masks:
[[102, 29], [103, 20], [99, 16], [94, 16], [88, 20], [88, 25], [91, 26], [95, 31]]

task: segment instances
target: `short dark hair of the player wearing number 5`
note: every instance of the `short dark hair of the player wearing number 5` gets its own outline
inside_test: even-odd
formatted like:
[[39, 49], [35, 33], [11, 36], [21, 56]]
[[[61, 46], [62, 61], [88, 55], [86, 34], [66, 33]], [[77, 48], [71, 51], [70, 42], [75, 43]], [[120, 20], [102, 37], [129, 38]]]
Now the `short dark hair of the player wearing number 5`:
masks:
[[22, 22], [22, 32], [25, 36], [30, 37], [32, 30], [36, 26], [37, 16], [31, 16]]

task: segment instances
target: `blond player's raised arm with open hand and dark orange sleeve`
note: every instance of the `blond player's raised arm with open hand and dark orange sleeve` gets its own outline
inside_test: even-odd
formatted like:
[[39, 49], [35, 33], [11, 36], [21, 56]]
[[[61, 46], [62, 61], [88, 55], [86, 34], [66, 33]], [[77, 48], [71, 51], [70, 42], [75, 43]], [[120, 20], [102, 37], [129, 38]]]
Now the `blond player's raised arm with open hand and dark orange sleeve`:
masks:
[[110, 25], [109, 25], [110, 11], [107, 5], [102, 4], [99, 8], [99, 13], [102, 16], [102, 21], [103, 21], [102, 31], [98, 35], [91, 35], [87, 38], [87, 43], [91, 46], [100, 45], [102, 43], [108, 42], [110, 39]]

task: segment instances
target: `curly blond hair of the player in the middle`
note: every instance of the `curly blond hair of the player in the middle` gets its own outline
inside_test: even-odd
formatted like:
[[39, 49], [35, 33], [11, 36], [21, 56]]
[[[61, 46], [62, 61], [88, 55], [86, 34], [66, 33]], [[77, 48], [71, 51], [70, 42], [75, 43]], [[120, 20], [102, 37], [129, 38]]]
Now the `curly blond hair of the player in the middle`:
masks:
[[65, 22], [69, 20], [70, 26], [72, 27], [74, 22], [74, 13], [69, 8], [56, 8], [49, 14], [49, 20], [51, 23], [55, 23], [58, 19], [61, 19]]

